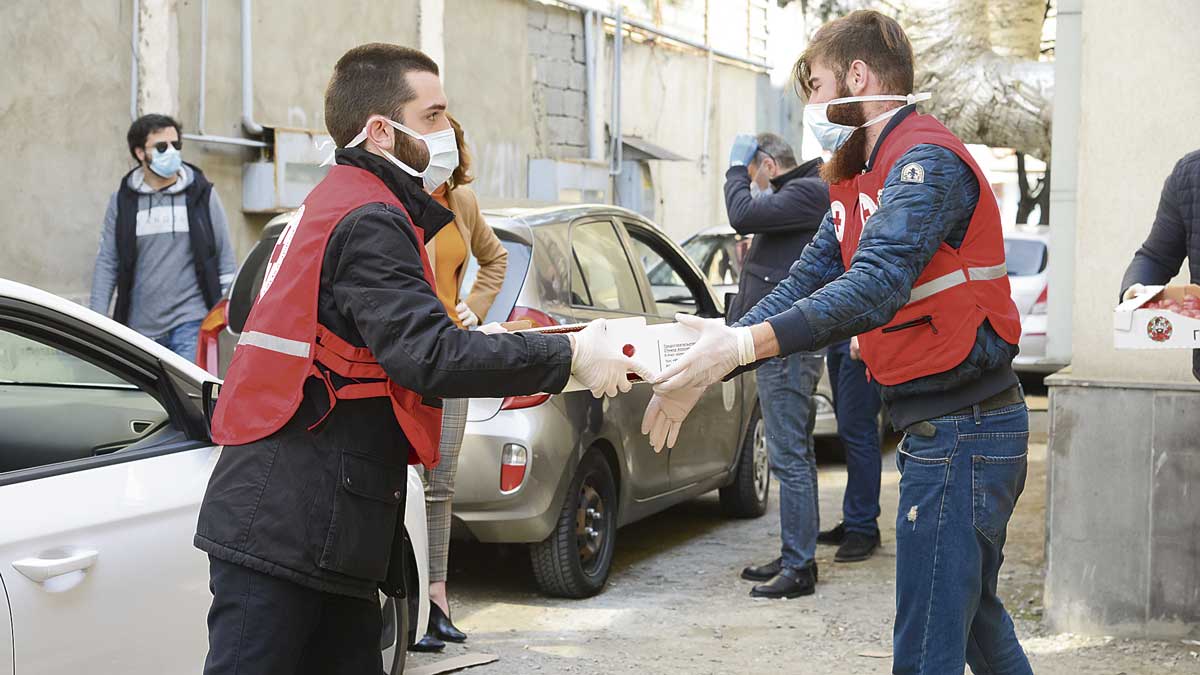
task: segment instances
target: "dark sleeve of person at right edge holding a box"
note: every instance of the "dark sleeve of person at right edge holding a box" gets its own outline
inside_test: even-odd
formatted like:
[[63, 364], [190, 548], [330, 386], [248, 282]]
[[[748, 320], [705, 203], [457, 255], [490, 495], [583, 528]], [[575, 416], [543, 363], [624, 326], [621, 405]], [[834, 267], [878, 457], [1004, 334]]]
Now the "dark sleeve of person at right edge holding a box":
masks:
[[[1180, 199], [1186, 193], [1189, 180], [1200, 183], [1200, 178], [1192, 175], [1195, 171], [1194, 162], [1187, 162], [1188, 157], [1175, 165], [1175, 171], [1163, 184], [1163, 193], [1158, 198], [1158, 214], [1154, 216], [1154, 225], [1150, 228], [1146, 241], [1134, 253], [1133, 261], [1126, 269], [1121, 280], [1121, 292], [1123, 295], [1134, 283], [1146, 286], [1159, 286], [1166, 283], [1172, 276], [1178, 274], [1183, 265], [1183, 258], [1188, 255], [1188, 232], [1183, 222]], [[1188, 171], [1192, 169], [1192, 171]]]

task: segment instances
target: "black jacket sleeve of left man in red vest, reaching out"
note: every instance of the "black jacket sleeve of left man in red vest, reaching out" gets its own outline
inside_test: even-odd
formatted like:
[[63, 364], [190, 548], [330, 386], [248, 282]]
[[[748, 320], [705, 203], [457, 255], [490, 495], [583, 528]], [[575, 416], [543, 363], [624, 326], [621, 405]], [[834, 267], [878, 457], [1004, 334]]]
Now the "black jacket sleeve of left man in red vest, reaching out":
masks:
[[457, 328], [425, 280], [402, 211], [368, 204], [347, 221], [338, 225], [349, 232], [338, 238], [334, 300], [392, 381], [455, 399], [563, 390], [571, 371], [565, 336]]

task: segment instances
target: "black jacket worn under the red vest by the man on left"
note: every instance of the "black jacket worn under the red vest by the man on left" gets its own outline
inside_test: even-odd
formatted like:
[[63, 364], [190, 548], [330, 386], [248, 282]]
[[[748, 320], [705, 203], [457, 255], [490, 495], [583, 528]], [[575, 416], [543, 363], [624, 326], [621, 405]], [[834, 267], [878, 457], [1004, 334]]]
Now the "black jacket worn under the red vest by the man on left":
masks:
[[[364, 150], [337, 162], [378, 175], [427, 237], [452, 220], [413, 179]], [[562, 335], [461, 330], [426, 282], [418, 243], [396, 208], [371, 203], [337, 223], [320, 270], [318, 321], [368, 347], [400, 386], [430, 398], [560, 392]], [[336, 376], [335, 376], [336, 378]], [[200, 506], [196, 546], [324, 592], [403, 592], [403, 504], [410, 443], [385, 399], [338, 401], [308, 378], [283, 429], [221, 452]]]

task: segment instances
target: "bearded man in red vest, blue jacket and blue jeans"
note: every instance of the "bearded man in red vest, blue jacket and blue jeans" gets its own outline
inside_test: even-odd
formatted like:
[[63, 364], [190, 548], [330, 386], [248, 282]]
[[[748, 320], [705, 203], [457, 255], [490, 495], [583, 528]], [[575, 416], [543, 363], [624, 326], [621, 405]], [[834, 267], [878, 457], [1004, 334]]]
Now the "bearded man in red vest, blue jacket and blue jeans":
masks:
[[[857, 335], [905, 431], [894, 673], [1032, 673], [996, 595], [1028, 442], [996, 198], [964, 144], [916, 112], [925, 96], [913, 95], [895, 20], [858, 11], [826, 24], [796, 76], [806, 123], [833, 153], [829, 213], [736, 325], [679, 317], [701, 338], [660, 375], [643, 428], [661, 444], [731, 371]], [[810, 584], [805, 574], [784, 569], [778, 584]]]

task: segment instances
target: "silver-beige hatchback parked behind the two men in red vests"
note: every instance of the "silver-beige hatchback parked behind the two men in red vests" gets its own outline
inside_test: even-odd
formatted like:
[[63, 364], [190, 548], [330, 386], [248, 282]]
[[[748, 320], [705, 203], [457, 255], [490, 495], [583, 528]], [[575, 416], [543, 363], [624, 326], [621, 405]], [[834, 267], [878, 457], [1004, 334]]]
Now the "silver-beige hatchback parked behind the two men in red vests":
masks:
[[[575, 205], [485, 216], [509, 253], [485, 322], [721, 316], [720, 299], [688, 256], [632, 211]], [[215, 315], [202, 336], [200, 350], [211, 348], [206, 365], [228, 366], [284, 222], [268, 225], [239, 269], [218, 312], [227, 324]], [[654, 281], [648, 270], [658, 270]], [[464, 288], [476, 271], [472, 264]], [[662, 453], [641, 434], [650, 393], [640, 384], [602, 401], [588, 392], [473, 399], [455, 482], [455, 534], [527, 544], [544, 592], [586, 597], [604, 589], [623, 525], [714, 489], [730, 515], [762, 515], [770, 480], [754, 376], [710, 387], [676, 447]]]

